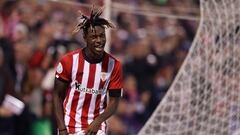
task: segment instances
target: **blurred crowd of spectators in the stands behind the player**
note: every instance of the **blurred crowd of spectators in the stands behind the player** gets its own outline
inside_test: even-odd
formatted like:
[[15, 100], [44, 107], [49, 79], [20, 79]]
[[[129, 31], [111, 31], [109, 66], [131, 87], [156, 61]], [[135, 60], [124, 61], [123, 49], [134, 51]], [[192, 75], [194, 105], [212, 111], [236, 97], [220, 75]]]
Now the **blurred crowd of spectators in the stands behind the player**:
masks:
[[[70, 0], [91, 4], [89, 0]], [[113, 0], [114, 1], [114, 0]], [[114, 2], [118, 2], [117, 0]], [[122, 3], [198, 8], [195, 0], [124, 0]], [[95, 3], [96, 4], [96, 3]], [[97, 4], [103, 4], [98, 1]], [[56, 134], [52, 109], [55, 64], [85, 46], [72, 34], [77, 10], [89, 9], [47, 0], [0, 1], [0, 134]], [[180, 12], [180, 11], [179, 11]], [[198, 22], [112, 11], [110, 52], [123, 63], [124, 95], [109, 119], [110, 135], [134, 135], [167, 92], [196, 33]], [[25, 103], [15, 115], [2, 105], [10, 94]], [[114, 124], [111, 124], [114, 123]]]

